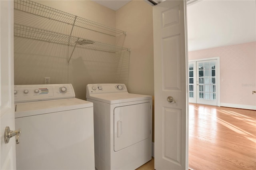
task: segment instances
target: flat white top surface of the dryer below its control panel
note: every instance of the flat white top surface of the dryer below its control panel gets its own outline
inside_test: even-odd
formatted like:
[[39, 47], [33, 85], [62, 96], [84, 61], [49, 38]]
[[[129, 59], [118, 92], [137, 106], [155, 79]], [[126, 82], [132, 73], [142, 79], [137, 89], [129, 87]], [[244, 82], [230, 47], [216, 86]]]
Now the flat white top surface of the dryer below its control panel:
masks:
[[108, 104], [125, 103], [131, 101], [140, 101], [152, 99], [152, 96], [138, 95], [128, 92], [124, 93], [102, 93], [102, 94], [91, 94], [87, 99], [101, 101]]

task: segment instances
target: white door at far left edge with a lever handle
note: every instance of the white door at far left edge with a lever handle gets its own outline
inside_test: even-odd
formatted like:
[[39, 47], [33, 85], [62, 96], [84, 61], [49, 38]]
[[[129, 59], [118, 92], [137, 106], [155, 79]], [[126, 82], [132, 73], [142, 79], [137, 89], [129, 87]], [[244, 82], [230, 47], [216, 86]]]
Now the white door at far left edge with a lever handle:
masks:
[[16, 169], [15, 137], [4, 142], [4, 130], [14, 130], [13, 1], [0, 1], [0, 154], [1, 170]]

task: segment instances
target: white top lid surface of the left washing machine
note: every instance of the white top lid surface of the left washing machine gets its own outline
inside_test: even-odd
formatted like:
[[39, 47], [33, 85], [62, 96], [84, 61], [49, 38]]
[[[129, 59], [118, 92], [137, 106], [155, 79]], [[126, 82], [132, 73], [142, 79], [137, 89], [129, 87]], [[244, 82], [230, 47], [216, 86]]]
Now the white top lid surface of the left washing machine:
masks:
[[15, 105], [15, 118], [93, 107], [92, 102], [76, 98], [33, 101]]

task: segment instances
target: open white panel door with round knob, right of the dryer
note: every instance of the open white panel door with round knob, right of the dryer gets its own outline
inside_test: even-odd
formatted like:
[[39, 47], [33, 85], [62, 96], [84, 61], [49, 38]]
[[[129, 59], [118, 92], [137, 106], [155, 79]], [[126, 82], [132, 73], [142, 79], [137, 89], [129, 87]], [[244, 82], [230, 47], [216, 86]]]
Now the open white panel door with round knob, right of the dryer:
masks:
[[[166, 0], [153, 7], [155, 169], [188, 169], [186, 4]], [[173, 102], [168, 102], [172, 96]]]

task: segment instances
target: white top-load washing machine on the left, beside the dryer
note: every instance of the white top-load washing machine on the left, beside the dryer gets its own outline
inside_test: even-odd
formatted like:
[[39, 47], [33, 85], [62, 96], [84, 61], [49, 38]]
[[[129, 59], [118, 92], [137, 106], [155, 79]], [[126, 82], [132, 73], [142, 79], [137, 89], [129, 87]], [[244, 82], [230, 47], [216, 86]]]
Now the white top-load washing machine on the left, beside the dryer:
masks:
[[71, 84], [15, 85], [18, 170], [94, 170], [93, 103]]

